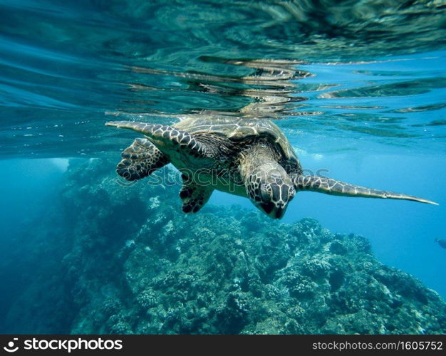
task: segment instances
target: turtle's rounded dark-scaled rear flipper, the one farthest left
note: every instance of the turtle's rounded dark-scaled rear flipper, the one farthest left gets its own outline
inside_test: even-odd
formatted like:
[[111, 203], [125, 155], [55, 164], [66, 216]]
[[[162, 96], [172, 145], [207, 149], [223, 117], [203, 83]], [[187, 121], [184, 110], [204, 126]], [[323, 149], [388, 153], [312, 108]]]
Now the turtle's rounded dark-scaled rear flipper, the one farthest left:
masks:
[[146, 138], [137, 138], [121, 153], [123, 159], [116, 172], [123, 178], [133, 181], [147, 177], [158, 168], [169, 163], [167, 156]]

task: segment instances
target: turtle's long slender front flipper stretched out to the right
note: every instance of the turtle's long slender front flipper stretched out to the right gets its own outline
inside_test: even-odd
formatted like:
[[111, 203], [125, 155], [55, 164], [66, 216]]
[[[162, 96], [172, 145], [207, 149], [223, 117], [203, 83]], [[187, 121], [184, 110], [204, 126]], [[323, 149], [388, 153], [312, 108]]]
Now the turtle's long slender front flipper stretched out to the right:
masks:
[[343, 197], [363, 197], [363, 198], [380, 198], [380, 199], [403, 199], [419, 201], [420, 203], [434, 204], [435, 201], [412, 197], [410, 195], [386, 192], [384, 190], [371, 189], [360, 187], [358, 185], [339, 182], [336, 179], [326, 177], [310, 176], [310, 175], [294, 175], [291, 180], [296, 188], [299, 190], [309, 190], [311, 192], [320, 192], [331, 195], [341, 195]]

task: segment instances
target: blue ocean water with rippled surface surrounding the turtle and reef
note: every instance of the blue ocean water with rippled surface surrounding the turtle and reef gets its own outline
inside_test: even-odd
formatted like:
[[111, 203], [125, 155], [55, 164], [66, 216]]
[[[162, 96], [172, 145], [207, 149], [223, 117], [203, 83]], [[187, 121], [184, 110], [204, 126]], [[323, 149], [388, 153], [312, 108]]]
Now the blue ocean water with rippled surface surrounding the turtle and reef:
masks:
[[[73, 229], [44, 219], [65, 204], [69, 162], [118, 162], [137, 136], [105, 122], [194, 115], [270, 118], [308, 172], [439, 203], [298, 192], [282, 221], [365, 236], [378, 261], [446, 298], [442, 1], [6, 0], [0, 16], [4, 318], [38, 264], [34, 231]], [[216, 192], [198, 214], [234, 204], [256, 211]]]

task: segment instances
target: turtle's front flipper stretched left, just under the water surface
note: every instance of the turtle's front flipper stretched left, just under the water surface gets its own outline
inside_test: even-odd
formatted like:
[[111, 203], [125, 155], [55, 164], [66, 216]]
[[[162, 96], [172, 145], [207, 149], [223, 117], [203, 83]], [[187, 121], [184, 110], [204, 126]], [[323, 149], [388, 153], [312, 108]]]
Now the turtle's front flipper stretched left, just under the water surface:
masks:
[[[197, 157], [204, 155], [206, 151], [202, 143], [195, 140], [195, 137], [190, 135], [189, 132], [179, 130], [176, 127], [146, 124], [145, 122], [138, 121], [109, 121], [105, 122], [105, 125], [118, 128], [122, 127], [140, 132], [155, 142], [161, 149], [162, 147], [172, 148], [176, 146], [188, 150], [191, 155]], [[158, 143], [160, 143], [160, 145], [158, 145]]]

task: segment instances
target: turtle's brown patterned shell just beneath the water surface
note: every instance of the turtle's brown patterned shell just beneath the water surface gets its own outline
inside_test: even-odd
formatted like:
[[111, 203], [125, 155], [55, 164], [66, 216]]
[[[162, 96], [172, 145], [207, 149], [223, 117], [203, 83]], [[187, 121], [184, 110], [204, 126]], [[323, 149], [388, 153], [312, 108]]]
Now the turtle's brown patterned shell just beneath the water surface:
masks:
[[279, 148], [285, 164], [297, 164], [299, 159], [289, 140], [279, 127], [266, 119], [239, 117], [191, 117], [177, 122], [175, 127], [190, 134], [220, 135], [233, 142], [244, 142], [254, 137], [266, 137]]

